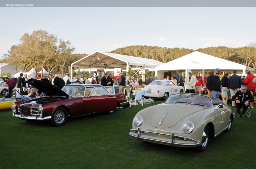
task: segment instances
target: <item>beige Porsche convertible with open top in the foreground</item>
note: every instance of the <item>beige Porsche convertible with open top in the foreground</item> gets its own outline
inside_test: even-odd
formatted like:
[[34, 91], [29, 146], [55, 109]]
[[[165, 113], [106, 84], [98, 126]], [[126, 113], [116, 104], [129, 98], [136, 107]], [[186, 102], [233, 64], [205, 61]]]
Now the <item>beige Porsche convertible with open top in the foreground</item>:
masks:
[[205, 95], [173, 94], [163, 104], [142, 109], [129, 135], [139, 141], [172, 147], [207, 148], [209, 138], [231, 130], [234, 114], [219, 99]]

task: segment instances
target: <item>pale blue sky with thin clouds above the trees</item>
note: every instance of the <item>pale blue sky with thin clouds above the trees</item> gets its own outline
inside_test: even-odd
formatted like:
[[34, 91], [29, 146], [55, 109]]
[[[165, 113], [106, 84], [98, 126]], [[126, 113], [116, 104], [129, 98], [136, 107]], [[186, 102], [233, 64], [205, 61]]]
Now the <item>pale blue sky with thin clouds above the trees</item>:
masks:
[[146, 45], [189, 49], [256, 42], [255, 7], [1, 7], [0, 59], [25, 33], [43, 29], [73, 53]]

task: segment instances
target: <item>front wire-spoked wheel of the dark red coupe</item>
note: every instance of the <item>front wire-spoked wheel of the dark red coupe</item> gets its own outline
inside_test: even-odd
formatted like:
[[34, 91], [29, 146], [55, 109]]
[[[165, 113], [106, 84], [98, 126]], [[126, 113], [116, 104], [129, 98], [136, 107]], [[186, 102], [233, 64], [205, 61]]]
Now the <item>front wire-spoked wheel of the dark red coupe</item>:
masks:
[[60, 107], [54, 110], [52, 113], [51, 123], [53, 126], [62, 126], [67, 122], [68, 113], [66, 109]]

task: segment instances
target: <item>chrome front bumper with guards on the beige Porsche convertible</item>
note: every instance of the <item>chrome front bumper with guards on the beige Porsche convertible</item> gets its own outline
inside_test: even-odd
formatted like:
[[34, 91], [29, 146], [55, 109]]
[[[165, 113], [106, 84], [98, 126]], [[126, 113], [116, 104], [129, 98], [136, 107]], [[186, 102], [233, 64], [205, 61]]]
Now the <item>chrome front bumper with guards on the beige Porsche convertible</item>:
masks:
[[[130, 132], [131, 131], [135, 131], [135, 133], [137, 133], [137, 136], [132, 135]], [[157, 132], [152, 132], [152, 131], [143, 131], [140, 130], [140, 128], [138, 128], [138, 130], [135, 129], [130, 129], [129, 135], [133, 138], [137, 138], [139, 141], [140, 140], [145, 140], [145, 141], [150, 141], [150, 142], [156, 142], [156, 143], [163, 143], [163, 144], [170, 144], [172, 145], [172, 147], [175, 146], [183, 146], [183, 147], [195, 147], [200, 145], [200, 143], [198, 143], [196, 140], [192, 139], [192, 138], [188, 138], [188, 137], [184, 137], [184, 136], [176, 136], [174, 134], [174, 132], [172, 132], [172, 134], [165, 134], [165, 133], [157, 133]], [[168, 142], [168, 141], [161, 141], [161, 140], [156, 140], [156, 139], [151, 139], [151, 138], [144, 138], [141, 137], [141, 133], [153, 133], [153, 134], [159, 134], [159, 135], [165, 135], [165, 136], [170, 136], [172, 137], [172, 142]], [[194, 141], [194, 144], [183, 144], [183, 143], [175, 143], [175, 137], [179, 137], [179, 138], [184, 138], [184, 139], [188, 139], [191, 141]]]

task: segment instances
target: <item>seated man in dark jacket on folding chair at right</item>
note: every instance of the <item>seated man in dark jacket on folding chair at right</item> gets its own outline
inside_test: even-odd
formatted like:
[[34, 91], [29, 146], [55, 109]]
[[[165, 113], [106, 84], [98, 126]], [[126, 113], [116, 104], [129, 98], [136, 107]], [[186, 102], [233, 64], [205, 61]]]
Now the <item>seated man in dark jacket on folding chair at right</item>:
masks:
[[[254, 100], [254, 97], [252, 96], [252, 93], [250, 91], [247, 91], [247, 87], [243, 85], [241, 86], [241, 90], [238, 90], [236, 94], [232, 96], [232, 100], [234, 100], [234, 102], [236, 103], [236, 109], [238, 113], [236, 117], [245, 117], [244, 113], [250, 106], [250, 102]], [[240, 111], [241, 106], [244, 106], [242, 115]]]

